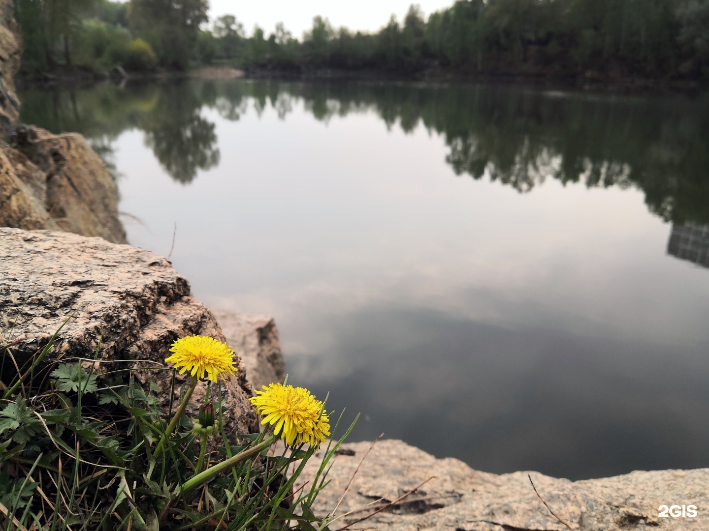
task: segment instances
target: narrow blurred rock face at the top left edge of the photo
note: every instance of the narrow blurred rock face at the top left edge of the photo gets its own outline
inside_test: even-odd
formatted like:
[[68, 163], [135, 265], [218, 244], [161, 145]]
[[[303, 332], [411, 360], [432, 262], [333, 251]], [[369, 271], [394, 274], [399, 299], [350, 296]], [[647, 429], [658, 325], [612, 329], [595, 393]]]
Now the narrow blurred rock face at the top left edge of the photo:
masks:
[[12, 0], [0, 0], [0, 138], [6, 138], [20, 117], [15, 74], [20, 69], [22, 38]]

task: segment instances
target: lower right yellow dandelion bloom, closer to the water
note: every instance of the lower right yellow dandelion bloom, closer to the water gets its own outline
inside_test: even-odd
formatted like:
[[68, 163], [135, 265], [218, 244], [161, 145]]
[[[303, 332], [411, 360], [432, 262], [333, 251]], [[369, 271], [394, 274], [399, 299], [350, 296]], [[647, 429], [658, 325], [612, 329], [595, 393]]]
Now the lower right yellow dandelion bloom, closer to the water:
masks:
[[274, 427], [274, 435], [281, 433], [287, 445], [320, 446], [330, 435], [330, 419], [323, 403], [308, 389], [292, 385], [270, 384], [257, 391], [250, 399], [263, 417], [262, 424]]

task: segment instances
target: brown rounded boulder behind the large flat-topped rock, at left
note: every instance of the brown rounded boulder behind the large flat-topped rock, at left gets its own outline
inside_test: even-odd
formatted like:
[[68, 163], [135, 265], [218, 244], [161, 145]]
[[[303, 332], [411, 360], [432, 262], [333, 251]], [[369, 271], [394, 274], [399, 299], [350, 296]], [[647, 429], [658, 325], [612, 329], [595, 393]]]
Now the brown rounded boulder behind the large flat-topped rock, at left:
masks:
[[0, 222], [6, 227], [58, 228], [125, 243], [116, 181], [84, 137], [52, 135], [25, 125], [15, 133], [16, 149], [1, 148], [0, 185], [6, 191], [2, 190], [0, 201], [9, 207], [0, 214]]

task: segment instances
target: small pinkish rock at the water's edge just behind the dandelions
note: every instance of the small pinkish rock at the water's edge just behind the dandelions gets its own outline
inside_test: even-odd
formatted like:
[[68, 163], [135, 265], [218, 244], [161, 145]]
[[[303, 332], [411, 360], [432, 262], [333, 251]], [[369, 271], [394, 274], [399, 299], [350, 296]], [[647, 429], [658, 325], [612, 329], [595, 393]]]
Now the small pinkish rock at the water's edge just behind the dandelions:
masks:
[[278, 329], [272, 317], [211, 308], [226, 337], [246, 365], [246, 377], [254, 389], [283, 382], [286, 363]]

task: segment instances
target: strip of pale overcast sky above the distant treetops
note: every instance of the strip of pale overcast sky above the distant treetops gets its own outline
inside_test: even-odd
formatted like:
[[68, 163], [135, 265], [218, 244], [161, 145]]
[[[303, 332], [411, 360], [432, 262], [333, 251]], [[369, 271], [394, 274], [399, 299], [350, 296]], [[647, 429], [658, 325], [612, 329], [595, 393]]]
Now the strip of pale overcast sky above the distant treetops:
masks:
[[391, 13], [401, 21], [413, 3], [419, 4], [428, 16], [451, 6], [453, 0], [210, 0], [209, 16], [213, 21], [225, 13], [233, 14], [244, 24], [248, 35], [255, 24], [268, 35], [277, 22], [283, 22], [294, 37], [301, 38], [316, 15], [329, 18], [335, 27], [374, 31], [386, 25]]

